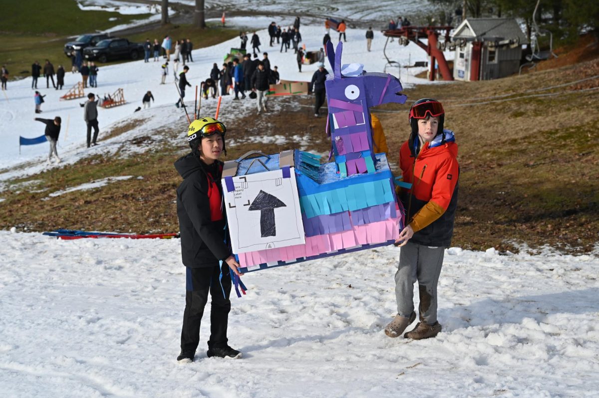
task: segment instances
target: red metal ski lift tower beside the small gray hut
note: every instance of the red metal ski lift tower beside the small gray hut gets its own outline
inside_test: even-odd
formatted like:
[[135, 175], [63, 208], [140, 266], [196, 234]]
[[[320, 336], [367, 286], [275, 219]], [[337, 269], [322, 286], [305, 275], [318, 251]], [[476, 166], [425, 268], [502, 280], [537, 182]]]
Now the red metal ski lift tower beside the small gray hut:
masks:
[[[452, 29], [453, 26], [403, 26], [400, 29], [388, 29], [383, 31], [383, 35], [387, 37], [383, 54], [385, 54], [385, 58], [389, 64], [396, 63], [395, 61], [389, 60], [389, 57], [385, 52], [389, 38], [397, 37], [400, 45], [408, 45], [410, 41], [413, 41], [431, 57], [429, 62], [431, 68], [428, 77], [429, 80], [435, 80], [435, 63], [438, 63], [438, 68], [439, 71], [441, 71], [443, 80], [453, 80], [453, 75], [449, 70], [447, 60], [443, 56], [443, 50], [450, 41], [449, 32]], [[441, 35], [444, 37], [444, 42], [439, 41]], [[421, 39], [428, 39], [428, 43], [423, 43], [420, 41]]]

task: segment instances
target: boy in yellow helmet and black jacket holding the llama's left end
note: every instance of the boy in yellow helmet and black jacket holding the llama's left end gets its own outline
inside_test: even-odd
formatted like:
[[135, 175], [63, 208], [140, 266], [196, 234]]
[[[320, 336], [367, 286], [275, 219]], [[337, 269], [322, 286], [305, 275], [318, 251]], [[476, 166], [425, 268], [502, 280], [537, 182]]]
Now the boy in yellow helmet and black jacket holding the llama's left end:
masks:
[[240, 358], [241, 353], [227, 344], [227, 325], [231, 311], [231, 275], [240, 275], [239, 263], [231, 254], [225, 212], [222, 208], [223, 163], [226, 128], [211, 117], [194, 120], [187, 131], [191, 153], [175, 162], [183, 177], [177, 189], [177, 216], [181, 232], [181, 257], [186, 266], [186, 295], [181, 353], [177, 361], [193, 361], [199, 344], [199, 326], [208, 301], [210, 340], [208, 357]]

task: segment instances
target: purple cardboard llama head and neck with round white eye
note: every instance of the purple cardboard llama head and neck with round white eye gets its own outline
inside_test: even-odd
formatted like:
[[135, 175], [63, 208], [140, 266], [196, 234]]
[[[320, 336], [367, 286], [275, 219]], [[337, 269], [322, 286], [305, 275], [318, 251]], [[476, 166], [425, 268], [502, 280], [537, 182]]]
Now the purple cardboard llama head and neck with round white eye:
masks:
[[374, 172], [376, 159], [368, 108], [388, 102], [403, 104], [407, 97], [401, 94], [400, 80], [391, 74], [368, 73], [354, 68], [342, 75], [341, 51], [341, 42], [337, 44], [336, 53], [331, 42], [326, 43], [332, 68], [332, 74], [325, 81], [329, 108], [327, 122], [335, 163], [342, 176]]

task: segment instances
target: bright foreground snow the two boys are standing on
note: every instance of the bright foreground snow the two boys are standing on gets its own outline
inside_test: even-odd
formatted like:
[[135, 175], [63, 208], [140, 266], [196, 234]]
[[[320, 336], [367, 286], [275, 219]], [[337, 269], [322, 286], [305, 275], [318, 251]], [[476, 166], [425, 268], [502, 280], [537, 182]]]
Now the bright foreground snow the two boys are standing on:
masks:
[[[385, 336], [400, 249], [246, 274], [229, 344], [176, 363], [179, 239], [0, 232], [0, 396], [592, 396], [597, 254], [446, 250], [435, 339]], [[415, 297], [418, 297], [417, 291]], [[418, 301], [418, 299], [416, 298]]]

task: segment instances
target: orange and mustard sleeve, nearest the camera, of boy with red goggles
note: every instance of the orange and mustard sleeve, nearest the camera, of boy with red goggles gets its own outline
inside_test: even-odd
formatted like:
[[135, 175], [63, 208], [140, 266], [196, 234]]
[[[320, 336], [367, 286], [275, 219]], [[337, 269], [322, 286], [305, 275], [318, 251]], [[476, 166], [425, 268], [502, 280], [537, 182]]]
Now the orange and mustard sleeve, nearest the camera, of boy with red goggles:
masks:
[[441, 163], [432, 185], [431, 199], [426, 205], [422, 206], [410, 221], [410, 226], [414, 232], [429, 226], [447, 210], [455, 185], [458, 183], [458, 172], [458, 160], [453, 155], [450, 155]]

